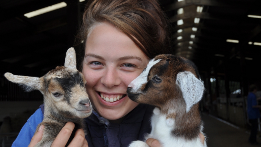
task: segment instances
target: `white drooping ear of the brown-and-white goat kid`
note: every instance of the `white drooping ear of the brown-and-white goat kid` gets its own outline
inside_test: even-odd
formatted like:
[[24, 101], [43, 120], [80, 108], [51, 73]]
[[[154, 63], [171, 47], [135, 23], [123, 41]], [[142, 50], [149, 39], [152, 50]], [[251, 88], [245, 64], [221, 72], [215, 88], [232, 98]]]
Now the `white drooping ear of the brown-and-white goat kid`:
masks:
[[186, 102], [186, 112], [189, 112], [191, 107], [201, 100], [204, 84], [189, 71], [178, 73], [176, 84], [179, 85]]

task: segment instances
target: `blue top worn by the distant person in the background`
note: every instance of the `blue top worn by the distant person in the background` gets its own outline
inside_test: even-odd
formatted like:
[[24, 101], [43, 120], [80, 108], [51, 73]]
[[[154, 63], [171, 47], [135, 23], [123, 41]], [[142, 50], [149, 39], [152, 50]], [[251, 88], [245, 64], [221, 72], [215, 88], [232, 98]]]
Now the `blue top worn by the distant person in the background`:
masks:
[[252, 106], [257, 105], [256, 95], [252, 92], [249, 92], [247, 96], [247, 114], [249, 119], [260, 118], [259, 108], [253, 108]]

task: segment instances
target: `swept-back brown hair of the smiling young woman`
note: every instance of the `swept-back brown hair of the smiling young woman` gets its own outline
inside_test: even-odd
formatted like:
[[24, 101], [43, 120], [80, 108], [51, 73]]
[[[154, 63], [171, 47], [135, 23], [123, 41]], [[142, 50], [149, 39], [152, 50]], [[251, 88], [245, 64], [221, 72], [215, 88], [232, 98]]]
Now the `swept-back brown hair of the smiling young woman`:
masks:
[[77, 35], [79, 41], [85, 46], [92, 28], [104, 21], [130, 37], [148, 58], [168, 53], [168, 21], [157, 0], [89, 0]]

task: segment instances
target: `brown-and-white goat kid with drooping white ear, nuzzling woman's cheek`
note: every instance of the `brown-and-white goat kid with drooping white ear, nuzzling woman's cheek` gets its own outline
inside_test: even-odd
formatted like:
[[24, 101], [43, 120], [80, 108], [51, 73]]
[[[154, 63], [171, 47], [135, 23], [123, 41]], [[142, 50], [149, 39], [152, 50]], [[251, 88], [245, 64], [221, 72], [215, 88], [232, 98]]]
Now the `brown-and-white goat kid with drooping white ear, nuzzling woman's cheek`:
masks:
[[[199, 104], [204, 84], [191, 61], [174, 55], [158, 55], [128, 86], [128, 97], [155, 106], [151, 133], [163, 147], [203, 147]], [[203, 134], [203, 133], [202, 133]], [[206, 147], [205, 142], [205, 147]], [[134, 141], [129, 147], [149, 147]]]

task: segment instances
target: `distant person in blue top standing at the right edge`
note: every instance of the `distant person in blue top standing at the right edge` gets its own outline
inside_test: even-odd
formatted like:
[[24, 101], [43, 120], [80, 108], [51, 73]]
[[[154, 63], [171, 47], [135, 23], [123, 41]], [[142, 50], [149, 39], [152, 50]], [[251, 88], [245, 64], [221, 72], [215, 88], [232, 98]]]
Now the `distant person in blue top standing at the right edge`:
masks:
[[258, 129], [258, 118], [260, 118], [259, 109], [261, 105], [257, 104], [257, 100], [261, 99], [261, 97], [256, 98], [255, 92], [257, 91], [256, 85], [252, 84], [249, 86], [249, 93], [247, 96], [247, 114], [248, 119], [251, 124], [251, 133], [248, 141], [252, 145], [258, 145], [259, 143], [256, 142], [256, 135]]

